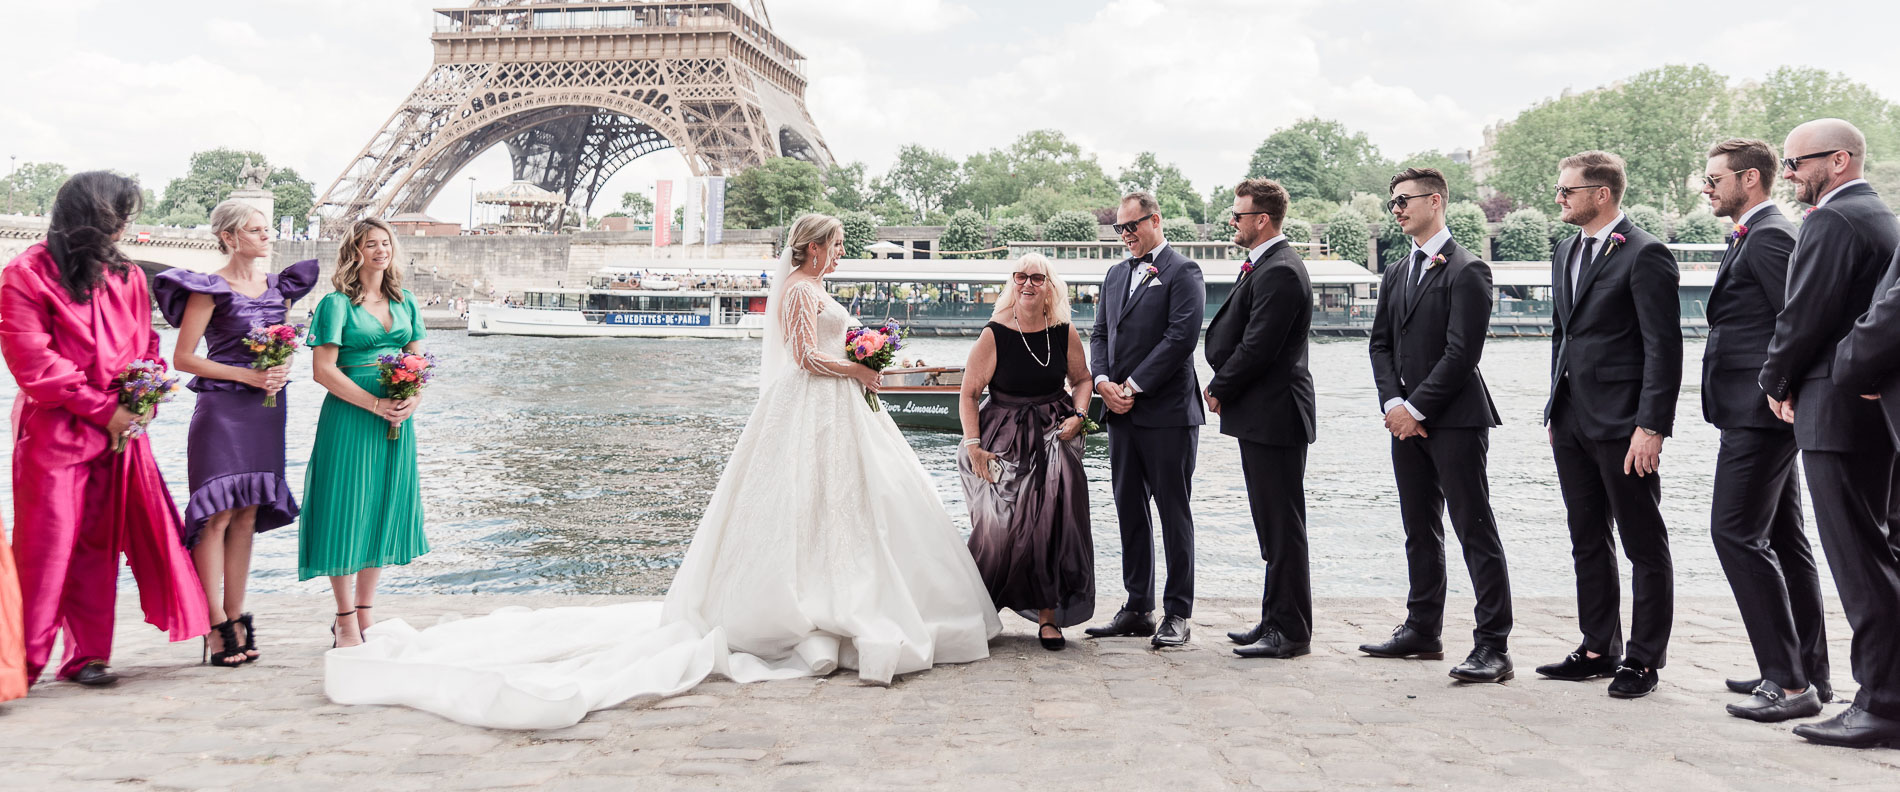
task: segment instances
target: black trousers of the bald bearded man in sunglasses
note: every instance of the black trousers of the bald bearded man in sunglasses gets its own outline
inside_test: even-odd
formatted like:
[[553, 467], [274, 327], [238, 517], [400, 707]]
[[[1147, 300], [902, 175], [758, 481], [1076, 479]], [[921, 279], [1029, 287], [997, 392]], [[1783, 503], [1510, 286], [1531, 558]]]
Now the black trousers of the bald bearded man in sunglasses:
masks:
[[1900, 718], [1900, 560], [1889, 522], [1894, 452], [1887, 437], [1873, 450], [1801, 452], [1814, 530], [1854, 629], [1851, 650], [1860, 708]]

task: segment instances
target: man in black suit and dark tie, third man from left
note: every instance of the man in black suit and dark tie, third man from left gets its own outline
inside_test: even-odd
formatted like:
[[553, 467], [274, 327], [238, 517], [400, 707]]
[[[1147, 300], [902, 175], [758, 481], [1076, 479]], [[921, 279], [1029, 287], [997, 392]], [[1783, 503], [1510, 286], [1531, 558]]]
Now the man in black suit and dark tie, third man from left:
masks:
[[1393, 177], [1385, 201], [1412, 237], [1412, 255], [1385, 270], [1372, 319], [1372, 380], [1379, 387], [1385, 429], [1393, 433], [1393, 475], [1406, 526], [1406, 570], [1412, 591], [1406, 621], [1393, 636], [1364, 644], [1374, 657], [1442, 659], [1444, 644], [1444, 513], [1465, 549], [1465, 570], [1478, 594], [1474, 648], [1452, 669], [1463, 682], [1514, 676], [1510, 574], [1492, 515], [1486, 477], [1497, 406], [1484, 387], [1478, 359], [1492, 329], [1492, 268], [1452, 241], [1444, 224], [1450, 201], [1444, 175], [1410, 167]]

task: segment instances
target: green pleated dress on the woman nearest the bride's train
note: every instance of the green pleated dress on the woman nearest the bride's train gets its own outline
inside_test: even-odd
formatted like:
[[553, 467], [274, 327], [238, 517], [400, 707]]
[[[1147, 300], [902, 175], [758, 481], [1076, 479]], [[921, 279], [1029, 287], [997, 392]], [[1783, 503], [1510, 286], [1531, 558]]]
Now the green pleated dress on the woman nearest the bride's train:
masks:
[[[422, 311], [407, 289], [403, 302], [390, 302], [388, 330], [342, 292], [325, 294], [310, 317], [310, 344], [336, 344], [336, 367], [378, 397], [388, 393], [376, 382], [376, 355], [397, 353], [424, 334]], [[429, 551], [414, 424], [403, 422], [403, 437], [391, 441], [382, 418], [334, 395], [323, 399], [304, 471], [296, 579], [408, 564]]]

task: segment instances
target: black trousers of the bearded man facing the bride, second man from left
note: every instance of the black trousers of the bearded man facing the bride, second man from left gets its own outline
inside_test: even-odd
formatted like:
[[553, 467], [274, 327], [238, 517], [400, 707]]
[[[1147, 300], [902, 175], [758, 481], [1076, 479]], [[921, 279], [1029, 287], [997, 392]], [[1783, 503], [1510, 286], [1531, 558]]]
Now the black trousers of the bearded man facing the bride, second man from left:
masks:
[[1313, 575], [1305, 537], [1307, 446], [1269, 446], [1241, 441], [1241, 477], [1254, 513], [1260, 558], [1267, 562], [1260, 621], [1286, 640], [1313, 640]]

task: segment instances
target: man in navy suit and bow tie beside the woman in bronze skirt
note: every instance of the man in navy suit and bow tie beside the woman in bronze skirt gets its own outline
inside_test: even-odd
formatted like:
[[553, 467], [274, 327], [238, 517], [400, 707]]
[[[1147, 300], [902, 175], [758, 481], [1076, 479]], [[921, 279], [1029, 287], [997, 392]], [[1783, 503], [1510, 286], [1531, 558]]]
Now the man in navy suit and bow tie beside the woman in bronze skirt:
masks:
[[[1121, 579], [1129, 602], [1091, 638], [1148, 636], [1155, 646], [1188, 642], [1193, 615], [1193, 462], [1201, 446], [1201, 380], [1193, 348], [1201, 336], [1206, 285], [1201, 264], [1161, 236], [1155, 196], [1121, 199], [1115, 232], [1130, 256], [1108, 270], [1089, 336], [1094, 391], [1108, 406], [1108, 465], [1121, 522]], [[1155, 610], [1155, 532], [1148, 501], [1161, 513], [1168, 579], [1163, 619]]]

